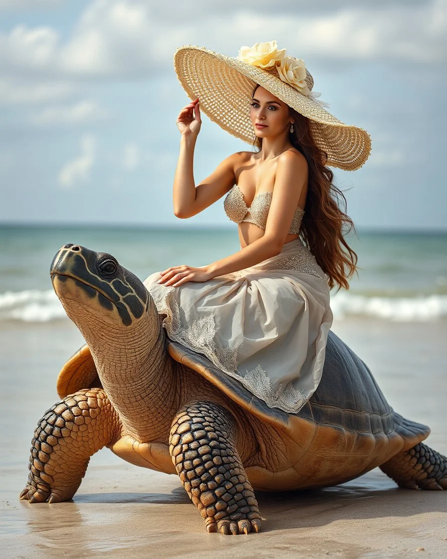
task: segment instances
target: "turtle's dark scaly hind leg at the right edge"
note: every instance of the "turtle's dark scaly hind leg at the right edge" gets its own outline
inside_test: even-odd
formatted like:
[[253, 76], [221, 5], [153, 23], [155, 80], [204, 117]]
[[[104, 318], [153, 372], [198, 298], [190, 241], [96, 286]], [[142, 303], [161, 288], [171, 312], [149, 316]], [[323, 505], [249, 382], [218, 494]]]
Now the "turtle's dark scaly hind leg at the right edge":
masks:
[[380, 468], [400, 487], [447, 489], [447, 458], [422, 443], [396, 454]]

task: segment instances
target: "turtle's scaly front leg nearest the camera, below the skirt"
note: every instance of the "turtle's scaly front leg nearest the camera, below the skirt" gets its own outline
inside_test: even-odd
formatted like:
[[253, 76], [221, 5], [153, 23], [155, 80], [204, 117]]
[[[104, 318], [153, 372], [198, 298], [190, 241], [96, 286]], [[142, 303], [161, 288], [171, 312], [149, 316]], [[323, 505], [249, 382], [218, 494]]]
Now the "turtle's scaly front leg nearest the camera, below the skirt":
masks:
[[169, 452], [208, 532], [259, 532], [261, 517], [253, 487], [235, 447], [235, 421], [213, 402], [194, 402], [172, 424]]

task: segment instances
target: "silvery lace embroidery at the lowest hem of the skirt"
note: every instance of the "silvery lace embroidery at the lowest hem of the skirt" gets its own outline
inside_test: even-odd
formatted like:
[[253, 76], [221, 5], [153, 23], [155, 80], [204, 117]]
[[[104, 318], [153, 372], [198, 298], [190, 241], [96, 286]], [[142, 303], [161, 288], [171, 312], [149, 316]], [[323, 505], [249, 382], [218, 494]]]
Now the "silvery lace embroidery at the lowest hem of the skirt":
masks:
[[289, 382], [286, 386], [279, 384], [277, 390], [273, 390], [267, 372], [258, 365], [255, 369], [243, 377], [245, 383], [250, 386], [251, 392], [270, 406], [270, 408], [281, 408], [289, 413], [295, 413], [297, 408], [302, 408], [307, 398], [302, 391], [293, 388]]

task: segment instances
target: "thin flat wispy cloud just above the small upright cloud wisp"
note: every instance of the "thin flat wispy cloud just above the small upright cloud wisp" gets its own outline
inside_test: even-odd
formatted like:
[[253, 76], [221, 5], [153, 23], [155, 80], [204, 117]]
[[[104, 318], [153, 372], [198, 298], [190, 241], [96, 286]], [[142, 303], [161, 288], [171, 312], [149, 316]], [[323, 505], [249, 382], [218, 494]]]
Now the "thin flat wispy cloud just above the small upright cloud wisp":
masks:
[[83, 124], [104, 119], [107, 112], [96, 101], [80, 101], [75, 105], [47, 107], [31, 116], [31, 123], [39, 126]]

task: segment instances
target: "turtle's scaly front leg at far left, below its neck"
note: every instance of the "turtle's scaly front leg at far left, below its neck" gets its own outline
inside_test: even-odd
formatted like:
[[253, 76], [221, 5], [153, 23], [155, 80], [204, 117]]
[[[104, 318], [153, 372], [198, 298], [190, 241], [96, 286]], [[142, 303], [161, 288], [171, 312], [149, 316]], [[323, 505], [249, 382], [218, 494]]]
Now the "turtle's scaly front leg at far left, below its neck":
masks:
[[46, 411], [31, 442], [28, 482], [20, 499], [59, 503], [77, 491], [90, 457], [118, 433], [103, 389], [79, 390]]

